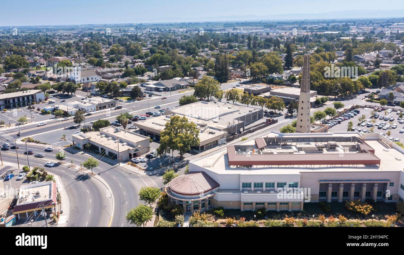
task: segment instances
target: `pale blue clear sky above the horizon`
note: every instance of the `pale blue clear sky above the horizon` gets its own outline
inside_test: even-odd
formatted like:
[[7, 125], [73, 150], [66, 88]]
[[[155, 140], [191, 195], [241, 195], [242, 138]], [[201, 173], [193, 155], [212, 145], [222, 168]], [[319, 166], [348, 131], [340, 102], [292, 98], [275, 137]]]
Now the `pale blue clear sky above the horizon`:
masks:
[[[1, 26], [199, 21], [201, 17], [400, 10], [403, 0], [2, 0]], [[298, 16], [298, 15], [297, 15]], [[330, 15], [330, 18], [332, 15]], [[403, 14], [404, 16], [404, 14]], [[268, 16], [267, 16], [268, 17]], [[369, 17], [372, 18], [372, 17]], [[210, 18], [215, 20], [215, 18]], [[245, 18], [245, 19], [251, 19]]]

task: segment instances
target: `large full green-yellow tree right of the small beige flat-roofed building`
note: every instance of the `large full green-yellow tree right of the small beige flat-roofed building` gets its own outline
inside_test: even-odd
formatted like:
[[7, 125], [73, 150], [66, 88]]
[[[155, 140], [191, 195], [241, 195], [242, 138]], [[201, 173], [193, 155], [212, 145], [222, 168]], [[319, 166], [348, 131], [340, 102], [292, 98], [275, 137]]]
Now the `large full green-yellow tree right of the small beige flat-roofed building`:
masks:
[[160, 132], [160, 146], [157, 152], [159, 155], [164, 155], [170, 150], [172, 154], [174, 154], [174, 150], [178, 150], [182, 157], [185, 152], [191, 150], [191, 147], [198, 146], [199, 143], [199, 131], [196, 124], [189, 122], [185, 116], [176, 115], [166, 122], [164, 130]]

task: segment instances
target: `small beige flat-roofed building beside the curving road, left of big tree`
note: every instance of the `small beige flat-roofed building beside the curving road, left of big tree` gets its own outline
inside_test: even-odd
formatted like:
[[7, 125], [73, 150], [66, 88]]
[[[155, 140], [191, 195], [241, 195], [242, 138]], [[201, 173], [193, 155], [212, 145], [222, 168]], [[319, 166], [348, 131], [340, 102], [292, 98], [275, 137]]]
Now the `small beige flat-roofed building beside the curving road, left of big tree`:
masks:
[[146, 154], [150, 150], [149, 137], [107, 126], [98, 131], [72, 135], [73, 143], [81, 150], [91, 148], [95, 152], [120, 162]]

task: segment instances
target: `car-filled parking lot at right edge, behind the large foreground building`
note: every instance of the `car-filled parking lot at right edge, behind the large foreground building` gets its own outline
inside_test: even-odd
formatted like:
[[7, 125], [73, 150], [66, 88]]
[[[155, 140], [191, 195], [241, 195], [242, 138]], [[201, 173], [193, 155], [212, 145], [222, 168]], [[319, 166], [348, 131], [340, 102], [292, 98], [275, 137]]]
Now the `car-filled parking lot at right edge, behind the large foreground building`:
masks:
[[[404, 129], [404, 120], [400, 121], [398, 120], [399, 118], [399, 114], [397, 114], [397, 112], [391, 112], [386, 114], [385, 111], [381, 111], [378, 112], [376, 111], [376, 114], [379, 114], [379, 118], [380, 117], [385, 117], [385, 116], [391, 116], [393, 119], [391, 119], [392, 121], [389, 120], [385, 120], [385, 118], [383, 119], [379, 119], [379, 118], [373, 118], [370, 114], [370, 112], [372, 112], [372, 110], [374, 110], [373, 108], [359, 108], [358, 109], [360, 111], [359, 114], [357, 114], [356, 116], [354, 116], [353, 118], [350, 118], [349, 120], [345, 120], [343, 122], [341, 122], [340, 124], [336, 124], [335, 126], [332, 126], [329, 131], [347, 131], [347, 126], [348, 126], [348, 122], [352, 121], [353, 122], [353, 129], [358, 130], [361, 133], [366, 133], [369, 132], [369, 130], [371, 131], [371, 128], [373, 128], [373, 132], [374, 133], [381, 133], [384, 134], [385, 136], [387, 136], [387, 132], [390, 132], [390, 139], [393, 138], [393, 140], [395, 141], [400, 141], [402, 142], [404, 140], [404, 130], [402, 131], [403, 133], [400, 133], [400, 129]], [[365, 116], [364, 121], [362, 123], [359, 122], [358, 118], [360, 118], [362, 115]], [[403, 123], [400, 123], [400, 122]], [[367, 124], [363, 124], [364, 122], [370, 122], [372, 124], [372, 126], [367, 125]], [[379, 129], [379, 123], [383, 123], [385, 122], [385, 126], [387, 126], [385, 129], [381, 128]], [[393, 128], [393, 127], [388, 127], [390, 125], [390, 122], [392, 125], [396, 124], [397, 127]], [[358, 125], [360, 124], [360, 125]], [[382, 125], [383, 126], [383, 125]]]

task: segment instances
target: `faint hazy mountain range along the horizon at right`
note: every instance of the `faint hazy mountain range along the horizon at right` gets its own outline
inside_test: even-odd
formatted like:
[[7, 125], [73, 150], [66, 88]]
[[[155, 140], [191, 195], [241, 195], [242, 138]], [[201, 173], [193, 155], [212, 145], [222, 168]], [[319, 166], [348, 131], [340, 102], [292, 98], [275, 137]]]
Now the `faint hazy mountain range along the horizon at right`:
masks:
[[158, 22], [204, 22], [204, 21], [271, 21], [271, 20], [303, 20], [303, 19], [389, 19], [403, 18], [404, 10], [357, 10], [331, 11], [325, 13], [295, 13], [274, 15], [228, 15], [216, 17], [162, 17], [134, 19], [134, 23]]

